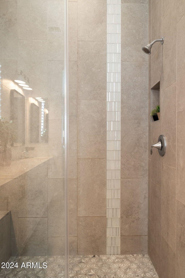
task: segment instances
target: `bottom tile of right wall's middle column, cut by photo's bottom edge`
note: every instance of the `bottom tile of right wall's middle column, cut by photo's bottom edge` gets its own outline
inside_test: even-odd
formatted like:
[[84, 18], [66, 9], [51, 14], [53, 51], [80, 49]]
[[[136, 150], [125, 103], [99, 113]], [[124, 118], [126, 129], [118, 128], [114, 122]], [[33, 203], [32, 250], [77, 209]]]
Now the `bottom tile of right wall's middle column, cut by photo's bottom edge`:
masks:
[[176, 258], [175, 253], [162, 237], [162, 278], [174, 278], [176, 275]]

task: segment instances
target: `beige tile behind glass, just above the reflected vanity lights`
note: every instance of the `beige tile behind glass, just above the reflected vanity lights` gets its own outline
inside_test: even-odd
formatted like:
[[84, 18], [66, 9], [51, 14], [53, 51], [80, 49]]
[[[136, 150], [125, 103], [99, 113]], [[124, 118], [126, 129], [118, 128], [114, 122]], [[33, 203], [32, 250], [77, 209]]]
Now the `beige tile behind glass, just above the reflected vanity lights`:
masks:
[[46, 96], [47, 67], [47, 41], [18, 41], [18, 78], [33, 89], [32, 97]]

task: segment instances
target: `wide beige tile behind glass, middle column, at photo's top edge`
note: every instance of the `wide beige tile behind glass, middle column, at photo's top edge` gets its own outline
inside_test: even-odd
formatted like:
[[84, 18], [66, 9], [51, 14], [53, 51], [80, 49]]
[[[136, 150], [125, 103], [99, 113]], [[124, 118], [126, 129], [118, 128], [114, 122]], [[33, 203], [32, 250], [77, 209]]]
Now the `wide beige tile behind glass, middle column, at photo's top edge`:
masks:
[[47, 0], [18, 0], [18, 39], [47, 40]]

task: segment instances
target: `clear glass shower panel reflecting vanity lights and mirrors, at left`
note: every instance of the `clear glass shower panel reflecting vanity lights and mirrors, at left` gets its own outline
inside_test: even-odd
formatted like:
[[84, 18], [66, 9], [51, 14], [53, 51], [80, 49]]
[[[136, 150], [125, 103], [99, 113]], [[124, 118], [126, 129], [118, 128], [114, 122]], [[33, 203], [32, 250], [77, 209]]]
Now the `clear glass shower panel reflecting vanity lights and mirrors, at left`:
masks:
[[65, 277], [66, 6], [0, 7], [0, 277]]

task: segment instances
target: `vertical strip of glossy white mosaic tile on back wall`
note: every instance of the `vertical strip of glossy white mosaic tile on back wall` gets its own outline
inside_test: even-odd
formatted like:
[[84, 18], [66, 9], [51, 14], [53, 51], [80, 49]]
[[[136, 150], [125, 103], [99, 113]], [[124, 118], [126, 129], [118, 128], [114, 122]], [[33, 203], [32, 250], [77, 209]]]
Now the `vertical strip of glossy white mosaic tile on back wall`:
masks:
[[107, 254], [120, 254], [121, 0], [107, 0]]

